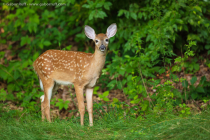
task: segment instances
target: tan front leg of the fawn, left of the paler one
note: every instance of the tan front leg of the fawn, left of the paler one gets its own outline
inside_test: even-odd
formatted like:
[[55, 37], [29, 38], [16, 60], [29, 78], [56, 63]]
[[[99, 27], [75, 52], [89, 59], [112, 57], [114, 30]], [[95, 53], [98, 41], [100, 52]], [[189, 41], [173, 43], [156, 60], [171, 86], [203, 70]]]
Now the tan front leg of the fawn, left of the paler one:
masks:
[[85, 104], [84, 104], [84, 96], [83, 96], [83, 88], [82, 86], [75, 85], [75, 91], [78, 101], [78, 108], [80, 113], [80, 123], [84, 125], [84, 114], [85, 114]]

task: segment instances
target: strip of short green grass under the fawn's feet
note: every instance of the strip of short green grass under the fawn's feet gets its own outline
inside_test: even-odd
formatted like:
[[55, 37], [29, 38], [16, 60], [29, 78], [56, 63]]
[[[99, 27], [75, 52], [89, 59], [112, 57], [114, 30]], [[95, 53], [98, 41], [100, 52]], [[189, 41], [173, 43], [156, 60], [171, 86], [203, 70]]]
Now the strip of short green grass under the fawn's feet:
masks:
[[42, 122], [40, 113], [0, 109], [0, 138], [11, 139], [209, 139], [210, 111], [186, 118], [174, 115], [147, 116], [138, 120], [129, 116], [120, 119], [118, 112], [109, 112], [94, 119], [94, 126], [80, 126], [79, 117]]

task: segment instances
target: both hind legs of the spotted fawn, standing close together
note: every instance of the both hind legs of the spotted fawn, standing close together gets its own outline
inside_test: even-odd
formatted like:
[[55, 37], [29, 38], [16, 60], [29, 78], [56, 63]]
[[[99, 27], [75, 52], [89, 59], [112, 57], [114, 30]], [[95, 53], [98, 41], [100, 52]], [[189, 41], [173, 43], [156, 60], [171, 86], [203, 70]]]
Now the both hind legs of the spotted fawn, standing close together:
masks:
[[[53, 95], [53, 88], [54, 88], [54, 81], [53, 79], [41, 79], [40, 80], [43, 83], [43, 89], [44, 89], [44, 95], [40, 97], [41, 99], [41, 110], [42, 110], [42, 120], [47, 118], [49, 122], [51, 122], [50, 119], [50, 99]], [[40, 84], [41, 84], [40, 82]]]

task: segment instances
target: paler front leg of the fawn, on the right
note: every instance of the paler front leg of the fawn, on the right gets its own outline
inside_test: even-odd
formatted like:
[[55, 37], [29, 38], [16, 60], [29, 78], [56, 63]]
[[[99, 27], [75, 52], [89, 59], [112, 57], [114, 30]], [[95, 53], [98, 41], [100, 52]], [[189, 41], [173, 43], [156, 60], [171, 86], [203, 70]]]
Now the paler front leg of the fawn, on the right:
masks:
[[87, 110], [89, 114], [89, 124], [93, 126], [93, 88], [86, 89]]

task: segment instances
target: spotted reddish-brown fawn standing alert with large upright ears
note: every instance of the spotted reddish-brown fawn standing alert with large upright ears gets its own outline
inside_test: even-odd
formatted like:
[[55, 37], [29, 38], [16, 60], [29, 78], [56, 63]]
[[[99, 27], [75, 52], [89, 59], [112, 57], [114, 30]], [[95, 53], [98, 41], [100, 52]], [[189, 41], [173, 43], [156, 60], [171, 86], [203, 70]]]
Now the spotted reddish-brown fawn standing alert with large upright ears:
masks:
[[86, 91], [87, 110], [90, 126], [93, 125], [93, 87], [104, 67], [109, 39], [117, 32], [117, 25], [111, 24], [106, 34], [95, 34], [94, 29], [85, 26], [85, 34], [95, 42], [95, 52], [48, 50], [33, 63], [39, 76], [40, 87], [44, 90], [41, 99], [42, 119], [50, 119], [50, 99], [58, 85], [73, 84], [76, 91], [81, 125], [84, 124], [85, 105], [83, 89]]

